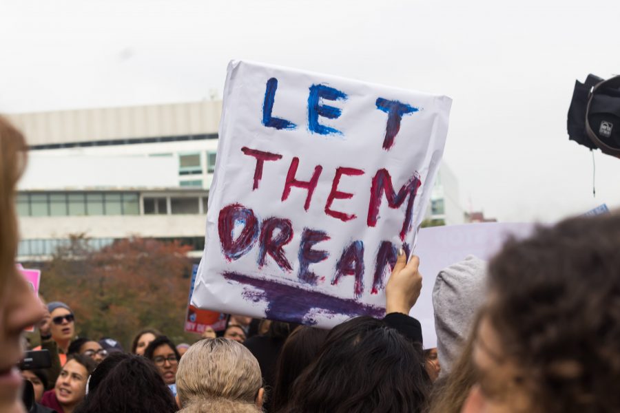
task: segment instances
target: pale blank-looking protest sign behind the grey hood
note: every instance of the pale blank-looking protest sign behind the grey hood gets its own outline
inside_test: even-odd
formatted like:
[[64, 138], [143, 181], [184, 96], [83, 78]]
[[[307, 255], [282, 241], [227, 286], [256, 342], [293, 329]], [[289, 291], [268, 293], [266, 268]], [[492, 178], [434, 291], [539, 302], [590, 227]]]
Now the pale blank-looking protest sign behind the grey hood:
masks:
[[434, 226], [420, 230], [414, 253], [420, 257], [420, 273], [424, 281], [420, 297], [410, 315], [422, 324], [424, 348], [437, 347], [433, 311], [433, 286], [437, 274], [447, 266], [464, 260], [468, 255], [489, 260], [502, 247], [506, 237], [526, 237], [533, 229], [534, 224], [484, 222]]

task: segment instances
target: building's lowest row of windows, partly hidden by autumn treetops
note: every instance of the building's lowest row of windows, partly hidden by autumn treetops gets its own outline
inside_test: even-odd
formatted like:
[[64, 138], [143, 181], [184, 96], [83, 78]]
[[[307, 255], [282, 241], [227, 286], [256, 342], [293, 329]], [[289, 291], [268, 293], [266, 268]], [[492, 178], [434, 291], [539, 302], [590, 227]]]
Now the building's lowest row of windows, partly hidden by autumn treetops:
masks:
[[[183, 238], [156, 238], [162, 242], [179, 241], [181, 245], [192, 246], [193, 251], [202, 251], [205, 249], [204, 237], [183, 237]], [[94, 250], [100, 250], [105, 246], [114, 244], [118, 241], [116, 238], [91, 238], [86, 240], [87, 246]], [[18, 257], [54, 255], [58, 248], [70, 246], [70, 240], [22, 240], [17, 247]]]

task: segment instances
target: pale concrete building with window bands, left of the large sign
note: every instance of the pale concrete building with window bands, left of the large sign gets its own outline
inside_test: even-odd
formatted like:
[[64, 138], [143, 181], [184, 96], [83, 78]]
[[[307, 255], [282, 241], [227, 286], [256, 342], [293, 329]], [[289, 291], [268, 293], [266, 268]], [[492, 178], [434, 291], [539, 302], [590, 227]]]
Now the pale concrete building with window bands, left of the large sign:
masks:
[[18, 260], [70, 235], [99, 248], [132, 235], [204, 248], [220, 101], [9, 116], [29, 163], [19, 182]]

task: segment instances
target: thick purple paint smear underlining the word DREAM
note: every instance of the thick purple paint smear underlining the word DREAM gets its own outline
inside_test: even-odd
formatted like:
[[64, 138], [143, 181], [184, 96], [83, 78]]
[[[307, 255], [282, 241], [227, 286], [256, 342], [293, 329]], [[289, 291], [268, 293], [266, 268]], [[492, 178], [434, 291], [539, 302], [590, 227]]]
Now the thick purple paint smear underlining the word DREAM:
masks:
[[385, 315], [385, 308], [362, 304], [354, 299], [343, 299], [331, 295], [306, 290], [300, 286], [291, 286], [267, 279], [258, 279], [226, 271], [223, 277], [229, 281], [236, 281], [258, 288], [256, 290], [245, 290], [243, 297], [249, 301], [267, 301], [265, 315], [268, 319], [288, 321], [290, 323], [317, 324], [315, 319], [307, 318], [310, 311], [320, 310], [322, 313], [333, 315], [343, 314], [348, 317], [358, 315], [371, 315], [381, 318]]

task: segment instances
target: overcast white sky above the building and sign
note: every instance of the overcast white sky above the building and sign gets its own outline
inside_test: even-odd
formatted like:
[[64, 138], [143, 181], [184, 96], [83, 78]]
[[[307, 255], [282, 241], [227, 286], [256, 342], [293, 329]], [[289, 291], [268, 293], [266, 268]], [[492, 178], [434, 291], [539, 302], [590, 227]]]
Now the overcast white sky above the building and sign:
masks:
[[620, 1], [0, 0], [0, 112], [167, 103], [251, 59], [453, 98], [465, 209], [557, 220], [620, 205], [620, 160], [568, 141], [576, 78], [620, 73]]

